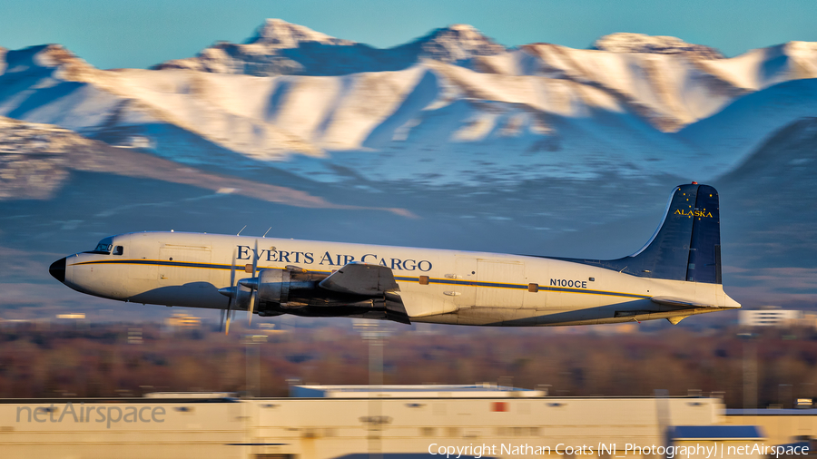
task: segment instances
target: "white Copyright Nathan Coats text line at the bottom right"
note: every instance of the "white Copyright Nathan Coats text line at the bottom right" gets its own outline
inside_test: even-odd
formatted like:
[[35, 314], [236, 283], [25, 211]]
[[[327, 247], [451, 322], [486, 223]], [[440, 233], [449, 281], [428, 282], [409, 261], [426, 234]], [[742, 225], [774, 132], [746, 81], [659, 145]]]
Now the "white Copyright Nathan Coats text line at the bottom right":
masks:
[[567, 445], [557, 444], [556, 447], [538, 444], [468, 444], [445, 445], [432, 443], [428, 445], [428, 454], [445, 456], [446, 459], [459, 459], [460, 457], [473, 457], [479, 459], [483, 456], [501, 455], [542, 455], [542, 454], [567, 454], [567, 455], [596, 455], [600, 454], [642, 454], [642, 455], [662, 455], [666, 459], [718, 459], [723, 457], [733, 457], [736, 455], [757, 455], [778, 458], [786, 455], [807, 455], [809, 447], [802, 445], [787, 446], [767, 446], [765, 444], [737, 442], [711, 444], [683, 444], [670, 446], [625, 444], [624, 448], [619, 448], [617, 444], [594, 444], [594, 445]]

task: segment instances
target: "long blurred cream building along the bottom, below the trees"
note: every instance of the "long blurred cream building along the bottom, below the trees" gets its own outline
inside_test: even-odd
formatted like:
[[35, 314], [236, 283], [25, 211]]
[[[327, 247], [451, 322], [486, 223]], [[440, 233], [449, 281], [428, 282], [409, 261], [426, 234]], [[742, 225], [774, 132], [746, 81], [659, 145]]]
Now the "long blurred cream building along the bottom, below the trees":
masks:
[[[479, 385], [297, 386], [292, 393], [296, 396], [250, 399], [229, 393], [5, 399], [0, 450], [4, 458], [589, 459], [655, 457], [667, 446], [792, 441], [777, 431], [767, 438], [767, 427], [748, 423], [756, 417], [730, 418], [718, 398], [556, 398]], [[812, 424], [798, 424], [796, 435], [817, 435], [815, 416], [808, 419]]]

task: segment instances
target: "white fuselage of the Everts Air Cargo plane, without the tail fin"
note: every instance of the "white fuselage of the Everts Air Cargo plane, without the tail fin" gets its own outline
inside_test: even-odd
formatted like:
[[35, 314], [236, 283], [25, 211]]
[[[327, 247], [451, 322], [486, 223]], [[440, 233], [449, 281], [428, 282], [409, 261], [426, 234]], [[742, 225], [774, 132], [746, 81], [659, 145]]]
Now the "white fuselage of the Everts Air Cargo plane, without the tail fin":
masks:
[[[254, 253], [254, 247], [258, 253]], [[638, 278], [558, 259], [441, 249], [144, 232], [113, 237], [121, 255], [78, 253], [64, 283], [91, 295], [144, 304], [226, 308], [230, 286], [257, 257], [258, 269], [293, 265], [330, 273], [350, 261], [392, 270], [408, 317], [416, 322], [554, 326], [683, 318], [739, 307], [719, 284]], [[420, 277], [428, 276], [428, 283]], [[537, 290], [537, 291], [536, 291]], [[685, 298], [708, 308], [674, 308], [652, 297]]]

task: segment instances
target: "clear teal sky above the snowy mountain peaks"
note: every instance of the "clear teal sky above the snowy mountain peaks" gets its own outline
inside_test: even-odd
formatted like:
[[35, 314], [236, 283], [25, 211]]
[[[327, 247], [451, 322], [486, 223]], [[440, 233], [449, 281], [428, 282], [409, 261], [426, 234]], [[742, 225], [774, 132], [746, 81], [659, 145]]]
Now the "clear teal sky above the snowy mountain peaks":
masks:
[[672, 35], [727, 56], [792, 40], [817, 42], [814, 0], [3, 0], [0, 46], [56, 43], [99, 68], [145, 68], [217, 40], [242, 42], [277, 17], [389, 47], [448, 24], [506, 46], [586, 48], [615, 32]]

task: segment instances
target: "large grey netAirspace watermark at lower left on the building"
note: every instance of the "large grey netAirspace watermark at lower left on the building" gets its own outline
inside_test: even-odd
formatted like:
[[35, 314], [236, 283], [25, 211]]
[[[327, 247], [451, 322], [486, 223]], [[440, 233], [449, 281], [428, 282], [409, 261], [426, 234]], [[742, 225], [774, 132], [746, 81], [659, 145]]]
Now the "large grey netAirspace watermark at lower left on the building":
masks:
[[[59, 414], [59, 417], [56, 415]], [[18, 406], [17, 422], [30, 423], [62, 423], [70, 421], [74, 423], [107, 423], [106, 428], [111, 428], [111, 424], [120, 421], [125, 423], [163, 423], [164, 407], [162, 406], [125, 406], [99, 405], [85, 406], [81, 403], [74, 406], [68, 402], [63, 408], [59, 406]], [[92, 419], [93, 417], [93, 419]]]

